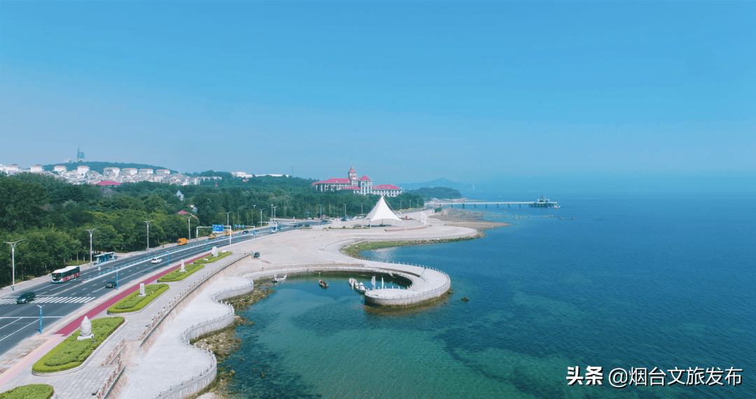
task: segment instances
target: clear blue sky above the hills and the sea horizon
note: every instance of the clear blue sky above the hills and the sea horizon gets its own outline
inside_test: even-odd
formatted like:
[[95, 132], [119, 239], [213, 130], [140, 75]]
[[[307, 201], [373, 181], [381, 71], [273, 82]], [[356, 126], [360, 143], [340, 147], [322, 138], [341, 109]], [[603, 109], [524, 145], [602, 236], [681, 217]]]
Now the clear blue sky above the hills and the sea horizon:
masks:
[[[754, 2], [2, 2], [0, 163], [756, 175]], [[751, 184], [749, 183], [749, 184]]]

